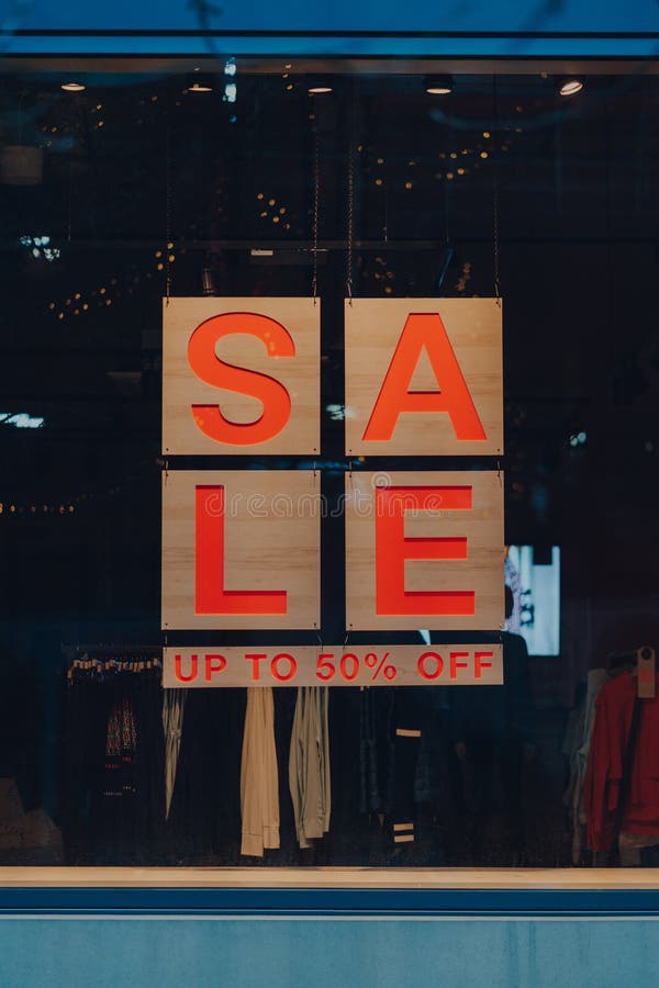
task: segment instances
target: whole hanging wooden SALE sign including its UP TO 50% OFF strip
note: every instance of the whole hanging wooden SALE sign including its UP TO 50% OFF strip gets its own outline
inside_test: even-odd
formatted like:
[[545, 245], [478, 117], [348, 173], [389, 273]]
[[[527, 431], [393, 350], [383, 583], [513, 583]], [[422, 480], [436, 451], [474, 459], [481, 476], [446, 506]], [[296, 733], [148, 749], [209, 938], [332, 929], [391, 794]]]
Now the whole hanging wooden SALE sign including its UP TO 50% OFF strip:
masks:
[[[349, 458], [500, 454], [499, 303], [350, 300], [345, 383]], [[166, 457], [315, 459], [320, 420], [320, 303], [164, 301]], [[345, 496], [327, 504], [322, 461], [313, 471], [166, 467], [163, 629], [320, 636], [321, 524], [330, 514], [345, 525], [346, 645], [166, 649], [166, 686], [502, 682], [500, 644], [347, 644], [353, 629], [503, 626], [498, 471], [373, 472], [346, 461]]]

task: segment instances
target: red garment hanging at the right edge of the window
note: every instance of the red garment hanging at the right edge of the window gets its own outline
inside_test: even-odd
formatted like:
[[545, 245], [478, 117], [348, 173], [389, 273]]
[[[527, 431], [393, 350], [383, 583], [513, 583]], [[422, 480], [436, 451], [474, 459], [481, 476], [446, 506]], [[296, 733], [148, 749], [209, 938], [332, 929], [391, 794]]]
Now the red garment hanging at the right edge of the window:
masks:
[[[593, 851], [607, 851], [613, 840], [636, 692], [636, 678], [624, 672], [602, 686], [595, 701], [583, 787], [588, 845]], [[652, 699], [638, 703], [638, 733], [622, 830], [659, 833], [659, 689]]]

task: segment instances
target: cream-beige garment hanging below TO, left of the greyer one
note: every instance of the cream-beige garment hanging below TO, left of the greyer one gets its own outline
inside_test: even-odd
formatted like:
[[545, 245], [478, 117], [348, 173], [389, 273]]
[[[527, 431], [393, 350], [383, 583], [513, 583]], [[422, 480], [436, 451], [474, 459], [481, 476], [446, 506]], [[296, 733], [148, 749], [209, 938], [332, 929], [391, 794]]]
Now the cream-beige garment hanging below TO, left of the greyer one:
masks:
[[241, 854], [263, 857], [279, 847], [279, 777], [271, 686], [247, 691], [241, 763]]

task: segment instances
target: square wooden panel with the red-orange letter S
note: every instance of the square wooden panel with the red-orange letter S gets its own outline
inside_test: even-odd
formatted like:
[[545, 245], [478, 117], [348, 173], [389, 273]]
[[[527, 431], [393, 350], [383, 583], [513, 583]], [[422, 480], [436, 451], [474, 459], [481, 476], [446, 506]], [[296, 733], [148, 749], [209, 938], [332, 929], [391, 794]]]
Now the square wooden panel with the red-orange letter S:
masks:
[[163, 452], [317, 453], [321, 304], [164, 300]]

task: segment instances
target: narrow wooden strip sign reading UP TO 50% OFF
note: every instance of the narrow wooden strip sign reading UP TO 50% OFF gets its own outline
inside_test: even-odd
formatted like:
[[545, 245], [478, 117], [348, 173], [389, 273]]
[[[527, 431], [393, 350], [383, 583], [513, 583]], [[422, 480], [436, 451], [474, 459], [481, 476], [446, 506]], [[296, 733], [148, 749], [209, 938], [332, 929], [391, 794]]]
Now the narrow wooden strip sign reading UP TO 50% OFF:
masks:
[[501, 683], [501, 644], [167, 648], [163, 672], [165, 688]]

